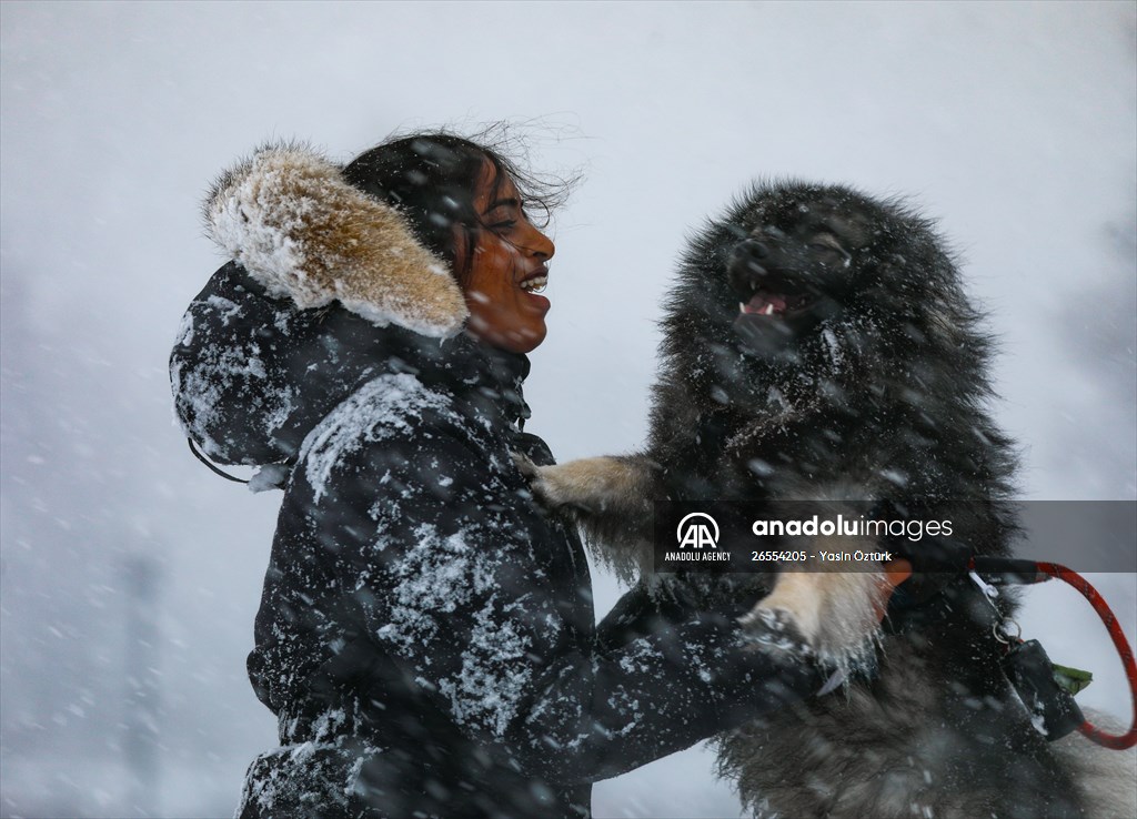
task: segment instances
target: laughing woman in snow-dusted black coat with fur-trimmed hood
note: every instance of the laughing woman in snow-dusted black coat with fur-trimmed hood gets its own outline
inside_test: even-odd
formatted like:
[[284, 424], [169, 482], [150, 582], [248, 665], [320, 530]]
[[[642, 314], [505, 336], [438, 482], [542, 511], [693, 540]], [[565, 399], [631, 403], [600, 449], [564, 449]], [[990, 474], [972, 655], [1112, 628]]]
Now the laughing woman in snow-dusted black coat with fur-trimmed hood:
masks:
[[[595, 625], [576, 536], [513, 453], [553, 242], [497, 152], [446, 134], [346, 168], [269, 147], [206, 206], [235, 260], [190, 306], [177, 409], [284, 499], [249, 674], [281, 749], [242, 817], [588, 816], [591, 783], [816, 690], [739, 611]], [[272, 465], [272, 466], [264, 466]]]

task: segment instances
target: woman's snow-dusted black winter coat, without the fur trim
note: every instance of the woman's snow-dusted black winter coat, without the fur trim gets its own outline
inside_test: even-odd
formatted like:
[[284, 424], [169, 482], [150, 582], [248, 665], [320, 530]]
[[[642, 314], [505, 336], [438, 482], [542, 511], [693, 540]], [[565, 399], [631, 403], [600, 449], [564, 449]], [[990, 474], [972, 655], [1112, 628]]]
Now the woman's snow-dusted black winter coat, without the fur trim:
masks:
[[207, 453], [283, 465], [249, 655], [281, 747], [241, 817], [588, 816], [592, 782], [818, 684], [642, 587], [595, 625], [581, 544], [512, 459], [551, 462], [524, 357], [298, 309], [230, 264], [171, 367]]

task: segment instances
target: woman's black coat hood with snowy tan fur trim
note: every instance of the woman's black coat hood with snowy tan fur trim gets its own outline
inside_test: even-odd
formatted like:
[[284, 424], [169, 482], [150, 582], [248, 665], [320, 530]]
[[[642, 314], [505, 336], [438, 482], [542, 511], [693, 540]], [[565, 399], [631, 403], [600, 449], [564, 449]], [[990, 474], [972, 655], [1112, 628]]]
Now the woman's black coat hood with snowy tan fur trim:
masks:
[[205, 203], [235, 261], [191, 302], [171, 353], [186, 436], [219, 463], [293, 460], [341, 401], [387, 373], [484, 394], [526, 413], [523, 356], [460, 334], [466, 306], [445, 265], [385, 204], [296, 147], [241, 162]]

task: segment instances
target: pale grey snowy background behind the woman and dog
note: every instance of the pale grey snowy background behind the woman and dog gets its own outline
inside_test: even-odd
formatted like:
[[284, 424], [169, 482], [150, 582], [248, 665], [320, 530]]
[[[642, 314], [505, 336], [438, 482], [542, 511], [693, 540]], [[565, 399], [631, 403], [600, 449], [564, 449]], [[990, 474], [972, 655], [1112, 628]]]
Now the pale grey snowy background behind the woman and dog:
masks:
[[[1114, 3], [0, 5], [3, 816], [219, 817], [275, 743], [244, 677], [279, 494], [193, 460], [166, 357], [223, 261], [208, 182], [267, 137], [540, 117], [556, 224], [531, 428], [636, 448], [684, 234], [758, 175], [908, 193], [1002, 352], [1024, 496], [1137, 498], [1137, 7]], [[1131, 574], [1097, 576], [1134, 640]], [[597, 574], [598, 610], [617, 588]], [[1021, 618], [1128, 718], [1088, 605]], [[694, 749], [598, 817], [737, 816]]]

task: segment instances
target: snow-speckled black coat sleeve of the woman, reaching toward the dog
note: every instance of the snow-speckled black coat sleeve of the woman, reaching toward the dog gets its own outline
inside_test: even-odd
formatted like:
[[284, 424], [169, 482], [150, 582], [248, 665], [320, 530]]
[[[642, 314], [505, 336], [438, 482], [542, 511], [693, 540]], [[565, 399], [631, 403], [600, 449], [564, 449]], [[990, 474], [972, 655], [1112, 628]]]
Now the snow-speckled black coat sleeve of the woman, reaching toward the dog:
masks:
[[[744, 651], [725, 618], [611, 649], [582, 640], [565, 616], [564, 538], [509, 443], [413, 376], [383, 376], [308, 436], [282, 512], [334, 563], [325, 592], [463, 734], [529, 775], [591, 782], [812, 683]], [[322, 593], [305, 590], [317, 607]]]

